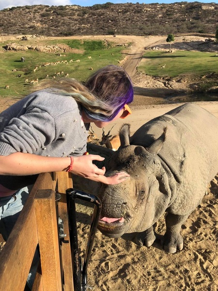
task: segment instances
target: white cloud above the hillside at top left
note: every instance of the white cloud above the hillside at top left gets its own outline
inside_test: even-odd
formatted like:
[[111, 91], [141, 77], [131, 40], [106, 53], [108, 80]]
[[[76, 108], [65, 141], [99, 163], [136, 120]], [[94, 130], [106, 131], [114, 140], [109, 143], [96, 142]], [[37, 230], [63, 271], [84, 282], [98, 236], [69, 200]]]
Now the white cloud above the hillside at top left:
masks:
[[[15, 4], [16, 2], [16, 4]], [[72, 5], [70, 0], [0, 0], [0, 10], [4, 8], [10, 8], [14, 6], [25, 6], [25, 5], [49, 5], [49, 6], [60, 6], [60, 5]]]

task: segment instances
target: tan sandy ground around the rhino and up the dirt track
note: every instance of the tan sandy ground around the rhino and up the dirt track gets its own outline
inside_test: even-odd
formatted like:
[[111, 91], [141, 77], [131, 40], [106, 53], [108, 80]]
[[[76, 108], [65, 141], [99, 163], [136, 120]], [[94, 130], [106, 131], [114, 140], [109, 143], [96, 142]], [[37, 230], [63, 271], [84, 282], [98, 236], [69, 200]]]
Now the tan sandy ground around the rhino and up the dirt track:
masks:
[[[132, 133], [148, 120], [180, 105], [156, 105], [156, 99], [164, 95], [166, 88], [154, 83], [149, 77], [141, 76], [136, 72], [144, 47], [159, 46], [166, 49], [166, 46], [168, 46], [165, 41], [166, 37], [117, 36], [112, 38], [112, 36], [107, 36], [105, 38], [118, 43], [133, 42], [123, 64], [133, 80], [135, 90], [140, 88], [140, 94], [136, 90], [135, 100], [131, 104], [133, 113], [125, 120], [125, 122], [130, 123]], [[202, 41], [199, 37], [189, 38], [193, 42]], [[180, 49], [182, 49], [181, 39], [177, 40], [178, 46], [181, 44]], [[185, 88], [186, 85], [181, 84], [181, 86]], [[15, 101], [13, 99], [0, 100], [0, 111]], [[218, 117], [218, 102], [198, 102], [198, 104]], [[118, 120], [112, 133], [116, 133], [123, 123], [124, 120]], [[114, 123], [111, 124], [111, 127], [112, 125]], [[100, 137], [102, 130], [95, 127], [94, 130]], [[123, 238], [110, 239], [97, 230], [88, 267], [88, 285], [90, 288], [87, 288], [87, 290], [217, 291], [217, 197], [218, 181], [215, 178], [208, 185], [208, 195], [205, 195], [201, 205], [192, 212], [186, 224], [183, 225], [184, 249], [176, 254], [168, 254], [163, 251], [158, 241], [149, 248], [139, 247], [133, 242], [125, 241]], [[86, 249], [92, 212], [92, 208], [78, 203], [78, 239], [82, 260]], [[164, 217], [157, 222], [156, 232], [159, 235], [164, 234]]]

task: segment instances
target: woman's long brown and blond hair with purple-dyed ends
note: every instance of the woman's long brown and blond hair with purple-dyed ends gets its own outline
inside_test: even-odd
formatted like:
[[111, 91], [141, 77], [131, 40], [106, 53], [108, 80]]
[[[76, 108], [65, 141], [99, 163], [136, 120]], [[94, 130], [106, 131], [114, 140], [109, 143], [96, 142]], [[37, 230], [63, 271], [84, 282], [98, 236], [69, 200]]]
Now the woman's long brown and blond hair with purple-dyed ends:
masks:
[[131, 80], [124, 69], [115, 65], [99, 69], [84, 85], [75, 79], [59, 78], [41, 81], [35, 89], [72, 96], [87, 117], [99, 121], [112, 120], [125, 104], [133, 101]]

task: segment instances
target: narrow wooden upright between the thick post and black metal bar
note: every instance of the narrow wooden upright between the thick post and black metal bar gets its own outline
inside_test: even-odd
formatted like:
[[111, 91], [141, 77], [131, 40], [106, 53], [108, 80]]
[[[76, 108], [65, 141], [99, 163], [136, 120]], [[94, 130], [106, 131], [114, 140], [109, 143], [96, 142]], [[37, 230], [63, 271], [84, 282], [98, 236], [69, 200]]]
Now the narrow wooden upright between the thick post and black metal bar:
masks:
[[58, 192], [62, 195], [62, 198], [58, 201], [58, 213], [59, 217], [63, 221], [63, 230], [66, 237], [62, 239], [61, 252], [62, 252], [62, 271], [64, 276], [64, 291], [74, 291], [73, 285], [73, 268], [70, 249], [70, 236], [68, 225], [68, 213], [66, 203], [66, 189], [72, 188], [72, 179], [69, 178], [68, 173], [58, 172]]

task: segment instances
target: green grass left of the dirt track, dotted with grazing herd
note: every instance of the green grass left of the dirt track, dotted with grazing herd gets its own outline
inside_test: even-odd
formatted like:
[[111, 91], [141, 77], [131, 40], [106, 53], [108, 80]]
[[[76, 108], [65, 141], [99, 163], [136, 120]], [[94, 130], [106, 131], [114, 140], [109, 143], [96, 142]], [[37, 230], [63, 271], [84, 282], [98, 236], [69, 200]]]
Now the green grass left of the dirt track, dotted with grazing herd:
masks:
[[[8, 41], [7, 43], [9, 43]], [[16, 42], [16, 41], [13, 41]], [[34, 41], [26, 41], [28, 44], [33, 44]], [[63, 72], [61, 77], [65, 74], [69, 74], [70, 78], [75, 78], [79, 81], [85, 81], [94, 71], [97, 69], [114, 64], [118, 65], [118, 60], [122, 60], [125, 55], [122, 54], [122, 48], [105, 48], [102, 41], [80, 41], [80, 40], [58, 40], [59, 44], [68, 45], [71, 48], [81, 49], [84, 53], [62, 53], [60, 56], [58, 52], [37, 52], [35, 50], [27, 51], [14, 51], [4, 49], [0, 50], [0, 96], [1, 97], [20, 97], [25, 96], [32, 90], [33, 84], [30, 81], [38, 79], [43, 80], [46, 75], [49, 78], [60, 78], [56, 76], [56, 73]], [[24, 44], [24, 43], [22, 43]], [[55, 45], [55, 40], [42, 40], [38, 45]], [[6, 45], [0, 43], [0, 47]], [[101, 56], [99, 56], [101, 55]], [[21, 57], [25, 57], [25, 62], [21, 62]], [[88, 59], [91, 56], [92, 59]], [[69, 61], [73, 59], [73, 62]], [[75, 62], [80, 60], [79, 63]], [[59, 65], [42, 66], [45, 63], [67, 61]], [[41, 67], [39, 67], [41, 65]], [[34, 68], [38, 69], [34, 72]], [[91, 70], [93, 68], [93, 70]], [[13, 70], [16, 69], [14, 72]], [[20, 77], [18, 77], [21, 75]], [[25, 80], [28, 79], [28, 82]], [[5, 89], [5, 85], [9, 86], [9, 89]]]

